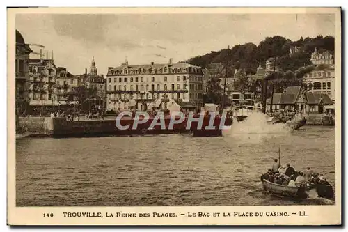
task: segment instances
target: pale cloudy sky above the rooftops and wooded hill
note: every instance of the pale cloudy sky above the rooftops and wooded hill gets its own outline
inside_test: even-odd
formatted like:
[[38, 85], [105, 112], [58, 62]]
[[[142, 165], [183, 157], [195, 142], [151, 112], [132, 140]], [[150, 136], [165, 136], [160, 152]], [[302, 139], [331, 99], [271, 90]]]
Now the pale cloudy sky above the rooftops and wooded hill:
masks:
[[74, 75], [89, 69], [93, 56], [98, 74], [106, 75], [125, 59], [129, 65], [176, 63], [246, 42], [258, 45], [268, 36], [334, 36], [334, 22], [334, 15], [315, 13], [16, 15], [25, 42], [45, 46], [49, 58], [53, 50], [56, 66]]

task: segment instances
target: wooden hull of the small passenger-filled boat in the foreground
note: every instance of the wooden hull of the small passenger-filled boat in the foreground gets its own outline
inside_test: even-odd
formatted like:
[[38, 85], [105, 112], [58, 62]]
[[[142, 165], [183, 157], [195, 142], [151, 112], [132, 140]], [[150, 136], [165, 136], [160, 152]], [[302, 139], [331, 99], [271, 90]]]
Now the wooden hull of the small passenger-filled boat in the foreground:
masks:
[[269, 180], [266, 180], [265, 178], [261, 178], [262, 185], [264, 187], [264, 190], [267, 190], [271, 193], [283, 195], [283, 196], [292, 196], [295, 198], [307, 198], [308, 194], [306, 193], [306, 187], [292, 187], [287, 185], [279, 185], [276, 183], [272, 183]]

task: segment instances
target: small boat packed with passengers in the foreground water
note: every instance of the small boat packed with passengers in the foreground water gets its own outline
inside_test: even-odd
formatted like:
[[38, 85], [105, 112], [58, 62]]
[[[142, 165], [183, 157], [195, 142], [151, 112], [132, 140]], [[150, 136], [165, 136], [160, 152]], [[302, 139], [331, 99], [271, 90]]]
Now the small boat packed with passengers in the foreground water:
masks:
[[323, 175], [314, 173], [310, 167], [302, 172], [295, 171], [290, 163], [287, 163], [287, 167], [280, 166], [280, 155], [279, 162], [275, 159], [271, 169], [262, 174], [261, 182], [264, 190], [276, 195], [306, 199], [309, 196], [308, 192], [315, 190], [318, 197], [334, 197], [333, 187]]

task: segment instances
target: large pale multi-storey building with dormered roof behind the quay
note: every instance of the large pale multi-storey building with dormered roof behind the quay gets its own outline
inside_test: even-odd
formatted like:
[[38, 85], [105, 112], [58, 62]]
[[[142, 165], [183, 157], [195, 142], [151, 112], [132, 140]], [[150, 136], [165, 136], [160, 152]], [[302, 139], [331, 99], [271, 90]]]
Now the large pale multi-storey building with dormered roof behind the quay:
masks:
[[160, 100], [160, 109], [167, 109], [170, 100], [191, 102], [196, 109], [203, 106], [202, 69], [188, 63], [170, 59], [164, 64], [129, 65], [126, 61], [109, 67], [106, 77], [109, 110], [148, 110], [155, 100]]

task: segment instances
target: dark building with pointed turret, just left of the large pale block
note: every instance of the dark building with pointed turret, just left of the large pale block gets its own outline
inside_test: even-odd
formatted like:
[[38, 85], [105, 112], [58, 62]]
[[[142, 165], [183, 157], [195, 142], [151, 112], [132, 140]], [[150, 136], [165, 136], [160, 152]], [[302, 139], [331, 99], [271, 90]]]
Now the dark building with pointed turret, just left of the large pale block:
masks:
[[97, 67], [95, 66], [94, 57], [90, 65], [89, 73], [87, 69], [84, 75], [80, 75], [81, 84], [83, 84], [91, 93], [89, 99], [93, 107], [99, 109], [106, 108], [106, 79], [104, 75], [98, 75]]

